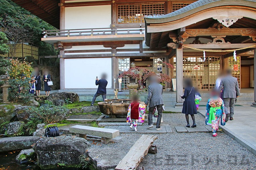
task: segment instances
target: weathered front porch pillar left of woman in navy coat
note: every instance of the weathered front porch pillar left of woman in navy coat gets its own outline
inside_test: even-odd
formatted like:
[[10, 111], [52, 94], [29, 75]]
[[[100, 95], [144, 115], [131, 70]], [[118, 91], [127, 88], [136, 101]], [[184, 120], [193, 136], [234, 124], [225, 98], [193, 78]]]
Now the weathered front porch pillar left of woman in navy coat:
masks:
[[183, 94], [183, 47], [176, 45], [176, 106], [182, 106], [183, 99], [179, 95]]

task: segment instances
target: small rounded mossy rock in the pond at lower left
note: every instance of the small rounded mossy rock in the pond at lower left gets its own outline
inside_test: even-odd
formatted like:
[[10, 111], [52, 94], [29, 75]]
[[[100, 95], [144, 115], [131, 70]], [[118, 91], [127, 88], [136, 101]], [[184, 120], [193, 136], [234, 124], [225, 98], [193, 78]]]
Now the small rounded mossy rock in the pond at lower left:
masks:
[[36, 153], [32, 148], [21, 150], [20, 153], [16, 156], [16, 162], [19, 165], [29, 164], [29, 163], [32, 163], [31, 161], [34, 162], [35, 160], [36, 160]]

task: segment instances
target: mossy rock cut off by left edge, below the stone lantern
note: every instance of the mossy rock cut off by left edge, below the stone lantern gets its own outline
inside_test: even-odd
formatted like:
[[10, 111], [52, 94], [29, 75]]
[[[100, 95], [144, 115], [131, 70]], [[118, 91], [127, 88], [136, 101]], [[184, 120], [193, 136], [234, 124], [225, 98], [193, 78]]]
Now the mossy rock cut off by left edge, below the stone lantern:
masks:
[[0, 105], [0, 124], [10, 121], [16, 114], [14, 112], [15, 106], [3, 104]]

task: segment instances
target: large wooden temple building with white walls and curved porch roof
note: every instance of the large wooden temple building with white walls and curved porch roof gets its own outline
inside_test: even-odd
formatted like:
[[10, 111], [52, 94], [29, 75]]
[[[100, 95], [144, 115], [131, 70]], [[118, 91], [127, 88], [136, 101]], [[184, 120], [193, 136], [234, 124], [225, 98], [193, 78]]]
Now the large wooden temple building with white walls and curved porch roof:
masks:
[[60, 89], [96, 88], [103, 72], [107, 88], [116, 88], [114, 80], [132, 62], [176, 79], [176, 105], [183, 102], [184, 77], [209, 90], [219, 71], [232, 68], [240, 88], [254, 87], [254, 0], [12, 1], [56, 27], [44, 30], [42, 41], [60, 50]]

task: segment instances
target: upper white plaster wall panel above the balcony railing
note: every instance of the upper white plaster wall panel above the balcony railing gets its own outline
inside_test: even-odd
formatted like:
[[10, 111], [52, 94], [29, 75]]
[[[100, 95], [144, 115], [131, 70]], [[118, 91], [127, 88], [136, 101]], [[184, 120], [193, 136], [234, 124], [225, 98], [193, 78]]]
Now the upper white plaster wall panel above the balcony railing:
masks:
[[106, 28], [111, 24], [111, 5], [65, 8], [65, 29]]

